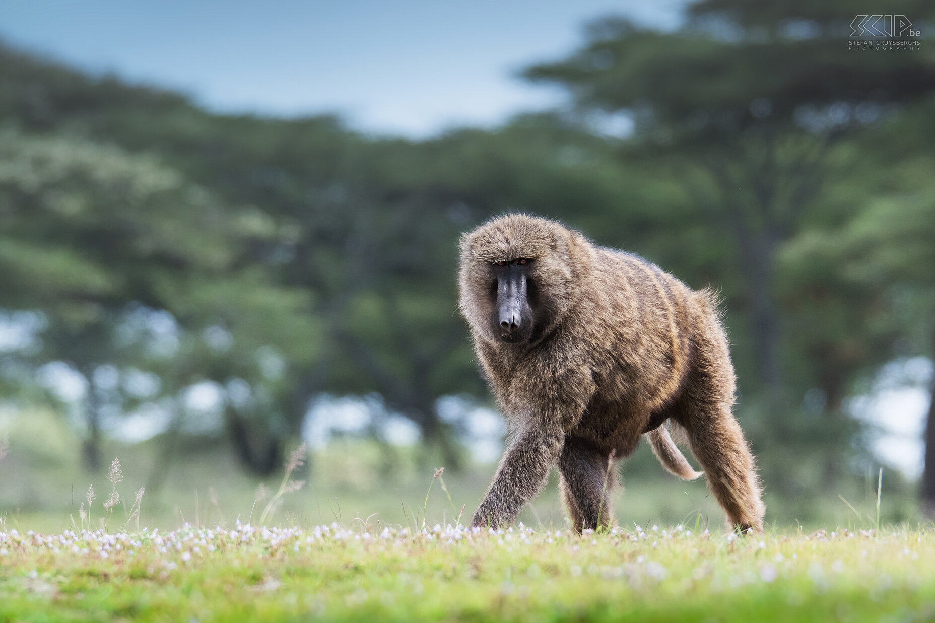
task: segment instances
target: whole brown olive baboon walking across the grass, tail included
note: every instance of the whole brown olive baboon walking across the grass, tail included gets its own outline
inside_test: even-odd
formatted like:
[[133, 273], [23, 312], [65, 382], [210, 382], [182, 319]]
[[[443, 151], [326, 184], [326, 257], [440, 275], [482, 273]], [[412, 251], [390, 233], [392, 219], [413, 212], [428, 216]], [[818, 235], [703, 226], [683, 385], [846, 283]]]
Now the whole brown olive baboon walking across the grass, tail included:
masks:
[[[461, 240], [461, 311], [511, 442], [474, 526], [510, 523], [557, 463], [577, 530], [613, 521], [614, 462], [645, 434], [683, 479], [691, 447], [741, 530], [763, 528], [753, 456], [731, 414], [734, 369], [717, 303], [632, 254], [524, 214]], [[610, 480], [610, 482], [609, 482]]]

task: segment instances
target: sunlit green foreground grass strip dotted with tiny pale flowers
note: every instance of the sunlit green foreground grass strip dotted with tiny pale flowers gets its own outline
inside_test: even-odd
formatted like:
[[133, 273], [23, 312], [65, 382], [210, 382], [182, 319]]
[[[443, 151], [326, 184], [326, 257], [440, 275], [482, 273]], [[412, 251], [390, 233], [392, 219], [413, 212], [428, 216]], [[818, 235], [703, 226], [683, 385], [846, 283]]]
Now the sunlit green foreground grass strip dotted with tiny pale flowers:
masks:
[[0, 536], [0, 620], [935, 618], [928, 529], [733, 539], [681, 528], [432, 528], [10, 530]]

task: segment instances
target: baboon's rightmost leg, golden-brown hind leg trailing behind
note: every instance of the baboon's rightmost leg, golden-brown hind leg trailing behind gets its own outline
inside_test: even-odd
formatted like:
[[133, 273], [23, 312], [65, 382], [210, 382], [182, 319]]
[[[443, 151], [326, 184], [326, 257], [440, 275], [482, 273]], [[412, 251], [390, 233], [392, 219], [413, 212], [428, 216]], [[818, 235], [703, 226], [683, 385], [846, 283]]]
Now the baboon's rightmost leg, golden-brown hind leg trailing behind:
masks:
[[731, 527], [762, 531], [765, 508], [760, 500], [754, 458], [730, 406], [689, 402], [683, 404], [683, 416], [692, 453], [701, 463], [708, 486]]

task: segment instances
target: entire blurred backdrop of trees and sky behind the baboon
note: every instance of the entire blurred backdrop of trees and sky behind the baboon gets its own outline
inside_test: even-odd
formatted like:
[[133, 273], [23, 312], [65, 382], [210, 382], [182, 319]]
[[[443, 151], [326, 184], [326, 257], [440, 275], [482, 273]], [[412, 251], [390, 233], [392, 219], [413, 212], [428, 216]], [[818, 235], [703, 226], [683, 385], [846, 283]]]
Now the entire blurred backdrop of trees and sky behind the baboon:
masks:
[[[7, 527], [114, 456], [119, 516], [255, 521], [301, 442], [275, 521], [469, 516], [505, 430], [456, 243], [507, 210], [721, 293], [770, 523], [868, 527], [881, 470], [935, 513], [935, 6], [397, 4], [0, 5]], [[621, 477], [624, 524], [721, 523]]]

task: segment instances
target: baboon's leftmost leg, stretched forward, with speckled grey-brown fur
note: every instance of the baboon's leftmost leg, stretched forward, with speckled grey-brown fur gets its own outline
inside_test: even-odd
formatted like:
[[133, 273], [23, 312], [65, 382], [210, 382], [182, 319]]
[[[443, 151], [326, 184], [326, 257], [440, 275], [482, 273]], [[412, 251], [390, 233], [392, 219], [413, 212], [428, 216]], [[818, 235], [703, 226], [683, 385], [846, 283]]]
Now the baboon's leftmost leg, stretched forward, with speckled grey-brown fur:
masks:
[[563, 436], [541, 429], [520, 431], [500, 459], [493, 482], [471, 526], [500, 528], [511, 523], [542, 485], [562, 449]]

